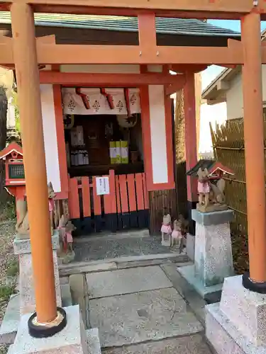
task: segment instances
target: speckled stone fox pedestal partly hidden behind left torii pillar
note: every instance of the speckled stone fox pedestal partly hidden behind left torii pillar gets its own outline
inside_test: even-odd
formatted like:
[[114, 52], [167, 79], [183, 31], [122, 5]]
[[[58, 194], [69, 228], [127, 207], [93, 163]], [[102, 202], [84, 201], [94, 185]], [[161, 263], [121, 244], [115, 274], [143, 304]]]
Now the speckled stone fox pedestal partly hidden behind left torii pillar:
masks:
[[[55, 231], [52, 236], [52, 257], [55, 270], [55, 291], [57, 298], [57, 306], [62, 306], [59, 272], [57, 264], [57, 249], [59, 248], [59, 235]], [[28, 314], [35, 312], [35, 293], [33, 282], [33, 265], [31, 256], [30, 239], [18, 239], [16, 237], [13, 242], [14, 253], [19, 257], [19, 295], [20, 295], [20, 312]]]

